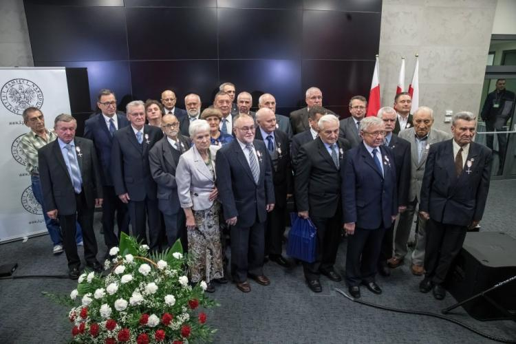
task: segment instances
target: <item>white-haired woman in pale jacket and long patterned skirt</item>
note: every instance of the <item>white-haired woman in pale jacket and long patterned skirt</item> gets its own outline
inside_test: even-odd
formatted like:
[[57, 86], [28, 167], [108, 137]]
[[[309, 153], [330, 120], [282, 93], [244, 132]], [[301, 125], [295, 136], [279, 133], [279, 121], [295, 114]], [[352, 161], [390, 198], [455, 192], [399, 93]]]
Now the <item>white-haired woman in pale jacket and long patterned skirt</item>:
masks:
[[206, 120], [194, 120], [189, 133], [193, 146], [181, 155], [175, 182], [186, 215], [190, 279], [193, 283], [204, 279], [208, 284], [206, 292], [214, 292], [212, 281], [224, 277], [215, 187], [215, 153], [219, 147], [210, 145], [210, 125]]

